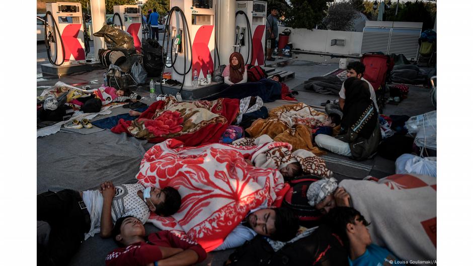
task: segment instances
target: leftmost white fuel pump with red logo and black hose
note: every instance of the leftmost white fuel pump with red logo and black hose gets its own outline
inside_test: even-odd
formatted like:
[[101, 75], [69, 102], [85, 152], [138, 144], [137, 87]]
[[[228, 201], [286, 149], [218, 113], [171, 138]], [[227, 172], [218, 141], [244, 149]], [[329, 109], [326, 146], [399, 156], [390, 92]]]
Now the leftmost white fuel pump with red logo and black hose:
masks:
[[70, 65], [86, 59], [89, 35], [80, 3], [46, 3], [45, 44], [49, 62]]

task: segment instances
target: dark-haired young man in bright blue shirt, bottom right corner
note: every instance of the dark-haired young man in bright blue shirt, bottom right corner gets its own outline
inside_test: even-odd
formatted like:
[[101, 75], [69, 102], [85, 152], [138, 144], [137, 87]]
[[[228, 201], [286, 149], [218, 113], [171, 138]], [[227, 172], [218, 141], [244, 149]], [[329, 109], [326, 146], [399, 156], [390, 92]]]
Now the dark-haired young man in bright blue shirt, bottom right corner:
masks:
[[328, 222], [348, 247], [352, 266], [404, 265], [391, 251], [372, 244], [366, 226], [369, 223], [351, 207], [336, 207], [328, 214]]

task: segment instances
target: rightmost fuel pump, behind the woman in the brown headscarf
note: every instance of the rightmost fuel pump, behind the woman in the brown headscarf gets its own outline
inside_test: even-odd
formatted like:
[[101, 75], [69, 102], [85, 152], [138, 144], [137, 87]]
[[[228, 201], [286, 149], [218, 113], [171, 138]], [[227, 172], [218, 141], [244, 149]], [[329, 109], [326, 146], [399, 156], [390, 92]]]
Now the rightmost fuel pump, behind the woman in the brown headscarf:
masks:
[[234, 50], [246, 58], [246, 64], [264, 65], [266, 5], [263, 1], [237, 0]]

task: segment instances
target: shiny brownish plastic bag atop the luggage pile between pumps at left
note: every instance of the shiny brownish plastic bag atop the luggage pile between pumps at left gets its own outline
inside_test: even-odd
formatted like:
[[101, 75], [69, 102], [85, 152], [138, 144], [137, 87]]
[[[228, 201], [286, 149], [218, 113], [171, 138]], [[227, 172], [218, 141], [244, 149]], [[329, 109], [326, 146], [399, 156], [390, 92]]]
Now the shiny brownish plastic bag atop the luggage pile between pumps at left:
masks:
[[110, 50], [122, 51], [125, 55], [136, 53], [133, 37], [126, 31], [104, 25], [100, 31], [94, 33], [94, 36], [104, 37]]

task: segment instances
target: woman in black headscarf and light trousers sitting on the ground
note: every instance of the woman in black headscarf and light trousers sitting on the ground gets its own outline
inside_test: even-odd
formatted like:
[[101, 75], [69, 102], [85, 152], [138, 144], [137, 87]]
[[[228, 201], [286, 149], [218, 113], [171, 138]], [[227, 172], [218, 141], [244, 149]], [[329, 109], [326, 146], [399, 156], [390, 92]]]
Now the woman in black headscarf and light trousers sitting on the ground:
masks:
[[381, 141], [378, 113], [370, 99], [366, 81], [348, 78], [345, 81], [345, 96], [339, 135], [319, 134], [314, 141], [333, 153], [364, 160], [376, 152]]

